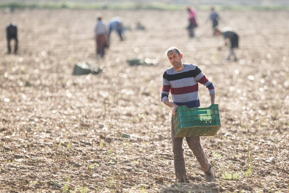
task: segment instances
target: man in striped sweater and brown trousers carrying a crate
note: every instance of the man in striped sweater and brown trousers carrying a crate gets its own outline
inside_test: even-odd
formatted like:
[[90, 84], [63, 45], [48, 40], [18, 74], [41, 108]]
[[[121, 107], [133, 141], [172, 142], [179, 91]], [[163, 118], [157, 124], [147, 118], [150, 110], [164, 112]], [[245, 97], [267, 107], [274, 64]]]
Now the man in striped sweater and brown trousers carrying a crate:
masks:
[[[166, 55], [172, 67], [166, 69], [163, 74], [161, 100], [166, 106], [172, 108], [173, 115], [176, 115], [178, 106], [185, 105], [189, 108], [200, 106], [198, 82], [208, 88], [211, 104], [214, 104], [216, 95], [215, 87], [213, 83], [205, 77], [200, 68], [193, 64], [182, 63], [183, 55], [176, 47], [170, 47], [166, 51]], [[172, 102], [168, 99], [170, 91]], [[171, 119], [171, 138], [176, 178], [179, 179], [179, 182], [188, 182], [184, 161], [184, 149], [182, 148], [183, 137], [175, 137], [173, 119]], [[215, 181], [215, 176], [211, 169], [212, 166], [208, 162], [200, 144], [200, 137], [186, 137], [186, 141], [200, 163], [201, 169], [205, 172], [206, 182]]]

